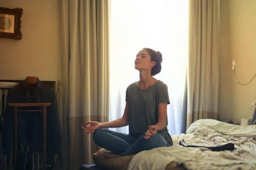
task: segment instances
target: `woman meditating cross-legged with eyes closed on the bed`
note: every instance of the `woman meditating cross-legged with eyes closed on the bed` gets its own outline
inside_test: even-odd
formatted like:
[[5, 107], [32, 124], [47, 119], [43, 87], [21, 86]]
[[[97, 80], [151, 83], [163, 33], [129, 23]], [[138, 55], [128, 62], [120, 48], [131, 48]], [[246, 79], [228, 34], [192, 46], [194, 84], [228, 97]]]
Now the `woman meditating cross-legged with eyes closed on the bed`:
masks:
[[[89, 121], [82, 127], [84, 133], [93, 133], [97, 145], [113, 152], [101, 153], [101, 159], [134, 155], [173, 144], [167, 130], [166, 110], [170, 103], [167, 85], [152, 77], [162, 69], [162, 54], [143, 48], [134, 63], [135, 69], [140, 71], [140, 80], [127, 87], [123, 117], [106, 123]], [[127, 125], [129, 134], [106, 129]]]

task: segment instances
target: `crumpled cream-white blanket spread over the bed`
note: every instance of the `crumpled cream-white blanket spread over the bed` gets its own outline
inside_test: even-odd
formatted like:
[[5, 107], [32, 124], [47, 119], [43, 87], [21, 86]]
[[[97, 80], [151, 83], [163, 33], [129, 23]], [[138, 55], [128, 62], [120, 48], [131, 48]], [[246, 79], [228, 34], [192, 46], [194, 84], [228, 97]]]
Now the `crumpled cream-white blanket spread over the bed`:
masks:
[[[164, 170], [171, 161], [186, 169], [256, 169], [256, 125], [239, 126], [213, 119], [197, 120], [187, 134], [172, 135], [171, 147], [155, 148], [135, 155], [128, 170]], [[211, 151], [207, 148], [185, 148], [186, 144], [215, 147], [234, 143], [233, 151]]]

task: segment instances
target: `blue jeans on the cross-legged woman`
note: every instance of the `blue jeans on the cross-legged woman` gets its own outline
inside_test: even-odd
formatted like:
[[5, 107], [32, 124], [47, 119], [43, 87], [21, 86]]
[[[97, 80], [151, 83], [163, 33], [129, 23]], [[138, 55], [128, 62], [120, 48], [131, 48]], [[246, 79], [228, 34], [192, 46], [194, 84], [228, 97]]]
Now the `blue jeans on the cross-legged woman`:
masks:
[[145, 133], [135, 137], [130, 134], [99, 128], [93, 133], [93, 141], [101, 148], [120, 156], [135, 155], [140, 151], [158, 147], [170, 147], [171, 144], [161, 134], [156, 133], [154, 136], [150, 136], [149, 139], [144, 139]]

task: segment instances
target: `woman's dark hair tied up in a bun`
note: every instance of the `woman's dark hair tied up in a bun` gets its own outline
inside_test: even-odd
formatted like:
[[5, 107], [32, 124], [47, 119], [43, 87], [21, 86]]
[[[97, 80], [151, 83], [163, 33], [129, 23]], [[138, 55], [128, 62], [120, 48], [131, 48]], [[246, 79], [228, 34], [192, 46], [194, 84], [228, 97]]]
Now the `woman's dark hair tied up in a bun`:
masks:
[[143, 48], [143, 50], [147, 50], [147, 52], [151, 56], [151, 61], [156, 62], [155, 66], [151, 69], [151, 76], [157, 75], [162, 69], [161, 63], [163, 61], [163, 56], [161, 52], [155, 51], [151, 48]]

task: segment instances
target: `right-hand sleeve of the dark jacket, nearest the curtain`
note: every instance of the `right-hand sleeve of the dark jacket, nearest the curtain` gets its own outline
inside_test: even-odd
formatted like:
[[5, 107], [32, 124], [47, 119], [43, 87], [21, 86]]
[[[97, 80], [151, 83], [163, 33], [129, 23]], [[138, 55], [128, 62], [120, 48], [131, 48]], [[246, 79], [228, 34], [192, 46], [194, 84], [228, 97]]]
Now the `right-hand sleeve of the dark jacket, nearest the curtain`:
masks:
[[52, 151], [54, 154], [61, 153], [62, 144], [61, 144], [61, 129], [60, 129], [60, 119], [59, 119], [59, 110], [55, 93], [52, 94], [51, 106], [49, 107], [49, 113], [47, 114], [46, 121], [50, 126], [50, 137]]

